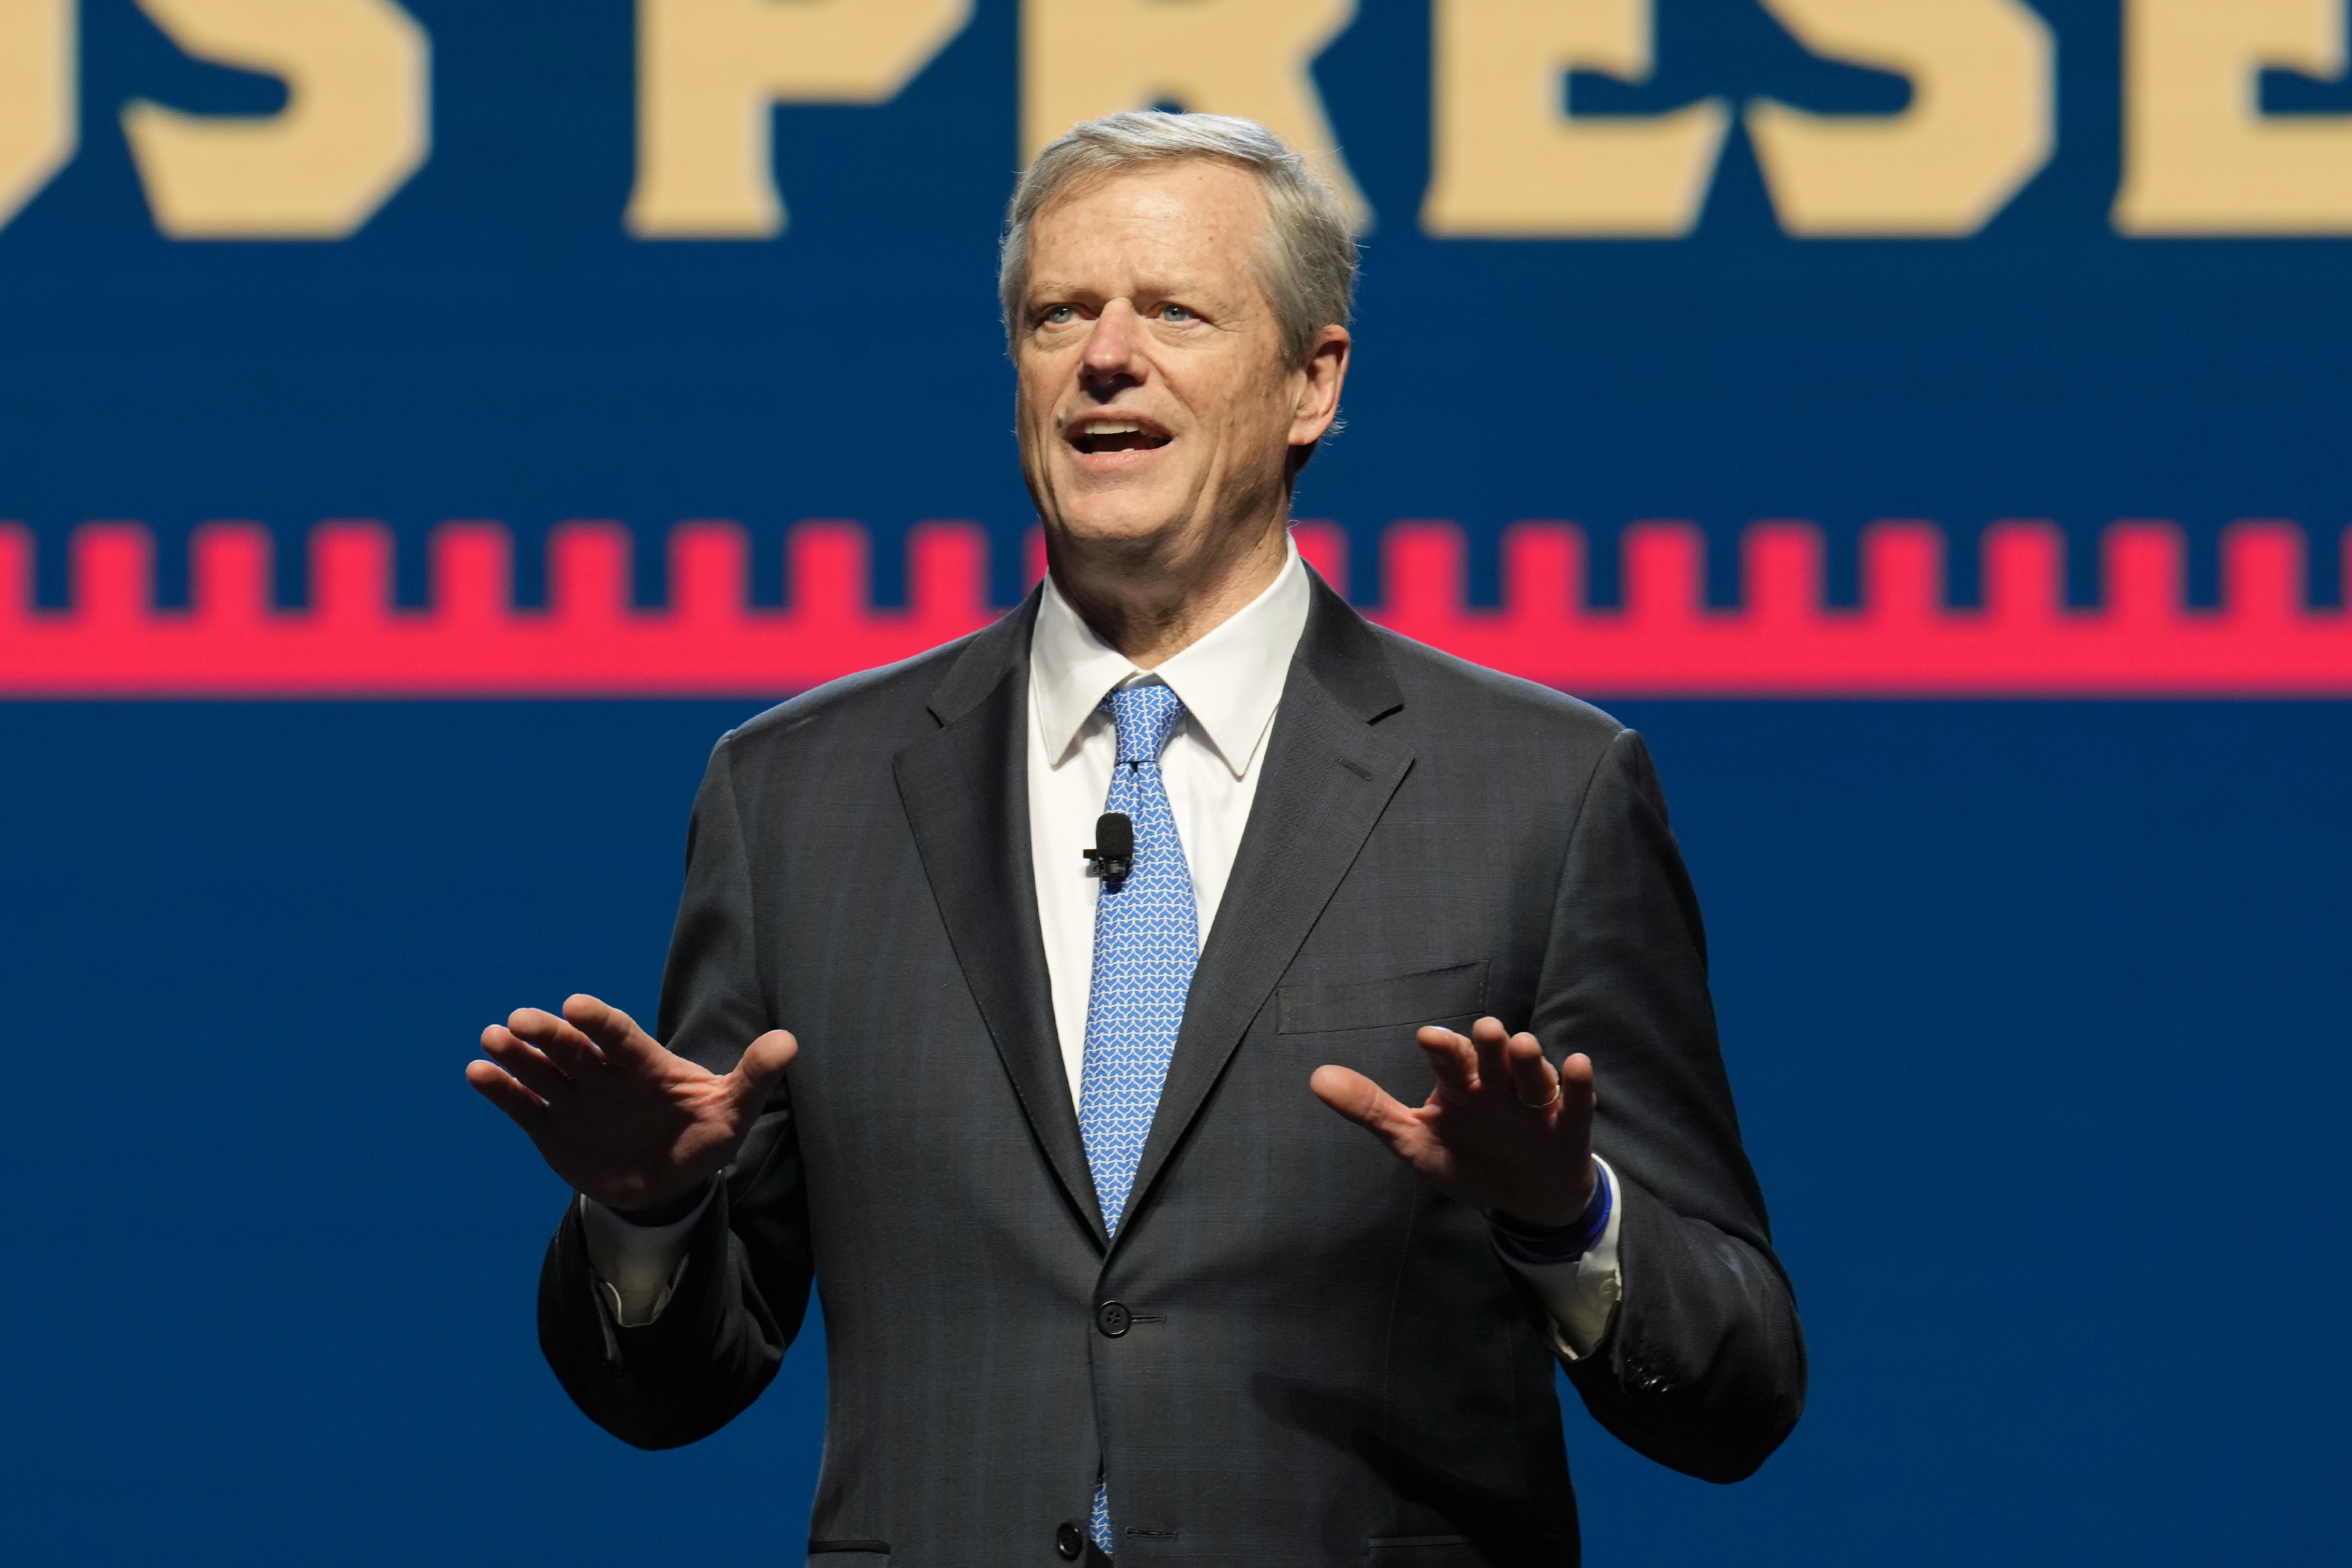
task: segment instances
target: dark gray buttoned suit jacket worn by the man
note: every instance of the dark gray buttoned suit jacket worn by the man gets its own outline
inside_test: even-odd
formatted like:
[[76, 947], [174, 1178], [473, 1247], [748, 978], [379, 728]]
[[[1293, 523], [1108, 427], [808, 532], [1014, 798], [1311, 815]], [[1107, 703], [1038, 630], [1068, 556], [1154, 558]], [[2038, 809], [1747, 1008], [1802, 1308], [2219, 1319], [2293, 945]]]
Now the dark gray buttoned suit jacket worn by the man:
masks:
[[[1569, 1366], [1642, 1453], [1752, 1472], [1804, 1342], [1740, 1152], [1705, 938], [1639, 736], [1315, 585], [1117, 1244], [1061, 1067], [1028, 849], [1028, 644], [997, 625], [720, 741], [661, 1039], [800, 1037], [666, 1314], [619, 1328], [576, 1218], [541, 1342], [595, 1422], [691, 1443], [826, 1314], [818, 1563], [1569, 1566], [1545, 1314], [1484, 1218], [1334, 1117], [1423, 1023], [1592, 1056], [1625, 1300]], [[1103, 1302], [1124, 1333], [1105, 1333]], [[1117, 1326], [1120, 1314], [1110, 1314]]]

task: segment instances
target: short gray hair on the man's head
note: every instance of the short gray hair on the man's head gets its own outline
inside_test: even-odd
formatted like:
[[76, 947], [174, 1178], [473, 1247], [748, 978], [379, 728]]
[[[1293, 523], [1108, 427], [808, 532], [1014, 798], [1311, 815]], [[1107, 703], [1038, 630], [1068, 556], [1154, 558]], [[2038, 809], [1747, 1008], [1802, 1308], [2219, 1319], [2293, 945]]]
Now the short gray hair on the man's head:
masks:
[[1355, 230], [1348, 209], [1331, 186], [1308, 169], [1308, 160], [1256, 120], [1134, 110], [1070, 127], [1037, 153], [1037, 162], [1014, 188], [1004, 214], [1004, 247], [997, 254], [1007, 339], [1021, 336], [1028, 237], [1037, 214], [1098, 179], [1192, 158], [1247, 169], [1265, 190], [1265, 237], [1251, 273], [1275, 306], [1284, 364], [1298, 369], [1317, 331], [1345, 327], [1355, 303]]

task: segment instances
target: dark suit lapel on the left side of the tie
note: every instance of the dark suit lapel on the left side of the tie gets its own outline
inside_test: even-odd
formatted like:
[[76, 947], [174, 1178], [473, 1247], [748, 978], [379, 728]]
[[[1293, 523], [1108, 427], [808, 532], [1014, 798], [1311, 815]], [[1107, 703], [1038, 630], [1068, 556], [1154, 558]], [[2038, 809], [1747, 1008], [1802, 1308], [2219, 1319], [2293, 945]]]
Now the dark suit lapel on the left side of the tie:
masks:
[[898, 799], [948, 943], [1030, 1133], [1096, 1244], [1108, 1244], [1070, 1107], [1037, 926], [1028, 827], [1028, 644], [1037, 595], [971, 639], [931, 696], [941, 729], [894, 759]]

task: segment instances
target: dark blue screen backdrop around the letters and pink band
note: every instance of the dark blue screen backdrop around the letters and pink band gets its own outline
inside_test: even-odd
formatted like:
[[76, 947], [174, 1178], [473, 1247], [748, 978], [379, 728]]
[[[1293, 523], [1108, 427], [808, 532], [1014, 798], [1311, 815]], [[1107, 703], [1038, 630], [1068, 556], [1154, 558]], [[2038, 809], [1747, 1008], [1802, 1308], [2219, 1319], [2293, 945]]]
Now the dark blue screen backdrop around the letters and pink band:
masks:
[[[339, 244], [155, 235], [115, 106], [282, 89], [85, 5], [80, 158], [0, 230], [0, 517], [287, 545], [383, 517], [421, 602], [445, 517], [619, 517], [661, 595], [680, 517], [896, 541], [1030, 515], [993, 303], [1014, 7], [887, 108], [779, 110], [793, 228], [637, 242], [630, 12], [414, 0], [430, 165]], [[2070, 592], [2122, 515], [2178, 520], [2192, 597], [2249, 515], [2352, 515], [2347, 242], [2107, 228], [2112, 2], [2060, 38], [2051, 167], [1964, 242], [1795, 242], [1733, 134], [1682, 242], [1432, 242], [1425, 5], [1364, 0], [1319, 66], [1369, 237], [1350, 430], [1301, 512], [1359, 545], [1456, 517], [1611, 541], [1691, 517], [1957, 541], [2053, 517]], [[1649, 87], [1898, 108], [1748, 0], [1661, 0]], [[2277, 110], [2352, 92], [2277, 75]], [[280, 597], [299, 602], [294, 552]], [[1016, 588], [997, 552], [997, 590]], [[1378, 599], [1374, 552], [1352, 592]], [[1955, 595], [1973, 595], [1966, 552]], [[1729, 552], [1710, 592], [1738, 595]], [[1606, 701], [1609, 693], [1595, 693]], [[1569, 1413], [1595, 1563], [2305, 1561], [2347, 1321], [2343, 705], [1625, 703], [1705, 898], [1726, 1053], [1813, 1340], [1755, 1479], [1656, 1469]], [[652, 1011], [684, 806], [729, 703], [0, 708], [0, 1552], [28, 1563], [790, 1561], [821, 1345], [724, 1434], [602, 1436], [532, 1342], [562, 1201], [459, 1081], [482, 1023], [597, 990]], [[779, 1526], [779, 1521], [783, 1521]], [[2331, 1547], [2333, 1542], [2333, 1547]]]

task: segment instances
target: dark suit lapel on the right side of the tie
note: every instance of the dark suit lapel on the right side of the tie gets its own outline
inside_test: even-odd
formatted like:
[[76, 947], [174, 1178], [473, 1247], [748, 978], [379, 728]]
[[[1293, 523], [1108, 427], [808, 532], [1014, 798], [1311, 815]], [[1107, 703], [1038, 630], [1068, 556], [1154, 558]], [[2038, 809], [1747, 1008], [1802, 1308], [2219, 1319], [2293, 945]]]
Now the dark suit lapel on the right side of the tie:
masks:
[[1411, 771], [1411, 748], [1378, 729], [1378, 719], [1402, 705], [1378, 635], [1317, 576], [1315, 607], [1265, 743], [1265, 773], [1249, 827], [1216, 929], [1192, 971], [1183, 1030], [1136, 1166], [1122, 1237]]

